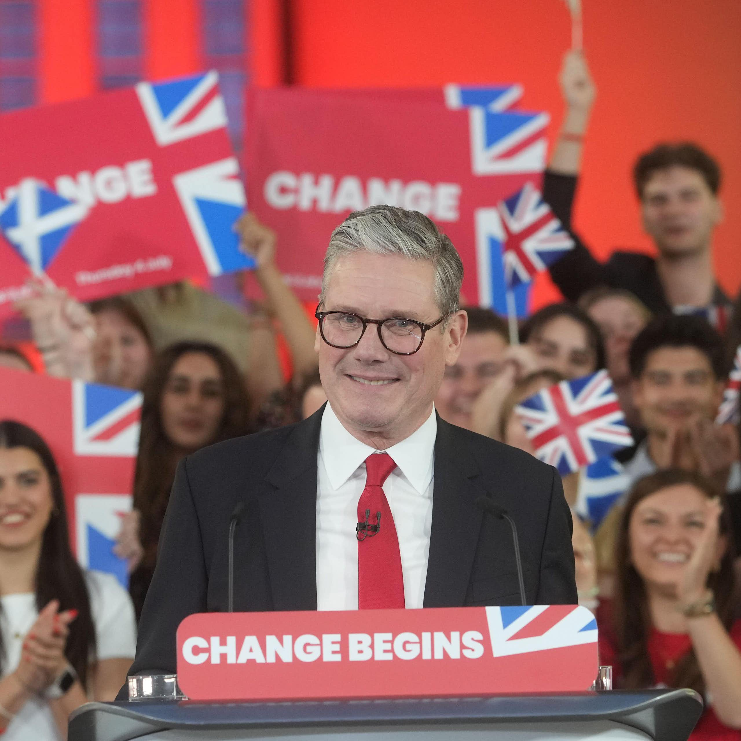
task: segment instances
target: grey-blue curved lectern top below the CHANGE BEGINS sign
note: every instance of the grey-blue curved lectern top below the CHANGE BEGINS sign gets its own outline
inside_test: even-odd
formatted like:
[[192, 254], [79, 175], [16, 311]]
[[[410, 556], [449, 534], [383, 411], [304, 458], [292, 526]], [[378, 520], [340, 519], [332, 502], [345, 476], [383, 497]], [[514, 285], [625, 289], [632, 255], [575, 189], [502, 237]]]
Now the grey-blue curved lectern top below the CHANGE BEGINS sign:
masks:
[[691, 690], [435, 700], [89, 702], [69, 741], [685, 741]]

